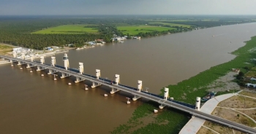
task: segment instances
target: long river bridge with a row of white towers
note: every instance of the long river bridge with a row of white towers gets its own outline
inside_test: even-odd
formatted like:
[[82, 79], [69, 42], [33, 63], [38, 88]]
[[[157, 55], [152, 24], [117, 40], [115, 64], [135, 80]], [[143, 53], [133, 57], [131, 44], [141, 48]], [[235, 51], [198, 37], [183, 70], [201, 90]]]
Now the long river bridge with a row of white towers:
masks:
[[163, 109], [165, 106], [172, 107], [173, 109], [178, 109], [184, 112], [187, 112], [189, 114], [194, 115], [195, 117], [200, 117], [202, 119], [207, 119], [212, 122], [217, 122], [219, 124], [225, 125], [227, 127], [233, 127], [236, 130], [241, 130], [244, 133], [256, 133], [256, 130], [252, 127], [247, 127], [245, 125], [238, 124], [236, 122], [231, 122], [227, 119], [222, 119], [220, 117], [216, 117], [211, 114], [206, 114], [200, 111], [200, 98], [196, 99], [196, 105], [190, 105], [188, 103], [183, 103], [180, 101], [174, 101], [173, 99], [168, 98], [168, 90], [165, 88], [164, 96], [155, 95], [153, 93], [147, 92], [147, 91], [141, 91], [142, 87], [142, 81], [138, 81], [138, 88], [135, 87], [129, 87], [127, 85], [119, 84], [119, 75], [115, 75], [115, 80], [111, 81], [109, 79], [103, 79], [100, 77], [100, 70], [96, 69], [96, 76], [92, 76], [89, 74], [84, 74], [83, 72], [83, 63], [79, 63], [79, 68], [69, 68], [69, 60], [67, 58], [67, 54], [64, 55], [64, 66], [58, 66], [56, 65], [56, 58], [51, 58], [51, 65], [46, 64], [43, 56], [40, 57], [40, 62], [34, 61], [34, 57], [31, 56], [31, 60], [25, 60], [24, 56], [23, 58], [12, 58], [5, 55], [0, 55], [1, 58], [8, 59], [10, 62], [18, 62], [18, 65], [27, 64], [27, 68], [31, 67], [37, 67], [37, 71], [42, 71], [45, 69], [48, 69], [48, 74], [54, 74], [54, 73], [61, 73], [61, 78], [65, 78], [67, 76], [75, 76], [77, 82], [82, 82], [84, 80], [89, 80], [92, 82], [92, 88], [105, 85], [110, 88], [111, 94], [123, 91], [128, 92], [132, 95], [134, 95], [134, 98], [132, 98], [133, 101], [138, 100], [138, 98], [146, 98], [151, 101], [155, 101], [160, 104], [159, 109]]

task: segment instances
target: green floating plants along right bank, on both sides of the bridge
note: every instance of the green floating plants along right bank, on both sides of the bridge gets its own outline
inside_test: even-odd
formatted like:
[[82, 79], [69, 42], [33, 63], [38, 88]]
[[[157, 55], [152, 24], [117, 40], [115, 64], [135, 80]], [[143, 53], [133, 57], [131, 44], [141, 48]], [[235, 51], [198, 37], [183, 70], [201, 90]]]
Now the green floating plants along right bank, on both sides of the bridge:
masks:
[[[230, 60], [227, 63], [222, 63], [218, 66], [209, 68], [206, 71], [192, 76], [190, 79], [179, 82], [176, 85], [169, 85], [169, 95], [177, 101], [184, 101], [186, 103], [195, 103], [196, 97], [203, 97], [207, 95], [208, 90], [211, 87], [211, 83], [219, 79], [221, 76], [225, 76], [227, 72], [230, 72], [231, 68], [240, 68], [241, 71], [245, 72], [245, 66], [254, 66], [255, 62], [249, 60], [256, 57], [255, 54], [255, 44], [256, 36], [252, 37], [250, 41], [246, 42], [244, 47], [239, 48], [238, 50], [232, 52], [233, 55], [236, 55], [236, 58]], [[228, 90], [233, 90], [230, 87]], [[163, 94], [163, 93], [161, 93]], [[189, 114], [181, 114], [181, 111], [175, 109], [166, 108], [162, 111], [159, 111], [158, 116], [155, 117], [154, 122], [149, 123], [148, 125], [143, 125], [138, 129], [134, 129], [135, 122], [142, 122], [142, 118], [151, 118], [154, 113], [153, 109], [158, 109], [157, 104], [151, 105], [150, 103], [144, 103], [142, 106], [139, 106], [138, 109], [133, 113], [133, 117], [124, 125], [120, 125], [113, 130], [112, 133], [129, 133], [129, 130], [133, 130], [132, 133], [178, 133], [179, 130], [189, 121]], [[162, 120], [158, 120], [158, 119]], [[159, 121], [159, 122], [158, 122]], [[161, 122], [167, 122], [162, 124]], [[143, 123], [143, 122], [142, 122]]]

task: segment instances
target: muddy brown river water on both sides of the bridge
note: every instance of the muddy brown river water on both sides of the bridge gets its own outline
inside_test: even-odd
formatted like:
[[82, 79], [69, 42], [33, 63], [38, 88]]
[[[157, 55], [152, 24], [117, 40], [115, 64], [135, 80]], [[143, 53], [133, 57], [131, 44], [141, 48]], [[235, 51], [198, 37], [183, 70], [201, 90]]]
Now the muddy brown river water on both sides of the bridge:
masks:
[[[256, 23], [226, 25], [69, 50], [67, 55], [70, 68], [82, 62], [86, 74], [95, 75], [95, 69], [108, 79], [119, 74], [121, 84], [132, 87], [142, 80], [143, 89], [158, 94], [168, 84], [232, 60], [235, 56], [229, 53], [255, 35]], [[56, 54], [58, 65], [63, 66], [63, 55]], [[45, 61], [50, 63], [50, 57]], [[29, 71], [25, 66], [20, 70], [17, 65], [0, 65], [1, 133], [108, 133], [127, 122], [142, 103], [127, 105], [126, 97], [131, 95], [109, 95], [104, 86], [83, 90], [91, 82], [75, 84], [73, 77], [53, 81], [46, 71]]]

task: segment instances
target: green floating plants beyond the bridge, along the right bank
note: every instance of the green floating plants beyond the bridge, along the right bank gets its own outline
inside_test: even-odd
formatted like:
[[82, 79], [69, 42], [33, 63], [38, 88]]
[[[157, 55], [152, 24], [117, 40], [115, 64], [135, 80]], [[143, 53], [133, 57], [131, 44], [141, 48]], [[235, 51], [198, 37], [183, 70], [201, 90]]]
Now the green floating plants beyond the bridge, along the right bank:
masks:
[[[179, 82], [176, 85], [167, 86], [170, 89], [170, 97], [173, 97], [177, 101], [194, 104], [196, 97], [203, 97], [206, 95], [206, 89], [209, 84], [217, 80], [220, 76], [225, 76], [231, 68], [240, 68], [241, 71], [245, 73], [247, 71], [244, 68], [245, 66], [249, 68], [255, 66], [255, 60], [252, 60], [253, 58], [256, 58], [255, 48], [256, 36], [252, 37], [252, 40], [246, 42], [244, 47], [232, 52], [233, 55], [236, 55], [236, 58], [233, 60], [211, 67], [208, 70], [203, 71], [196, 76], [192, 76], [190, 79]], [[181, 98], [184, 93], [187, 94], [185, 99]]]

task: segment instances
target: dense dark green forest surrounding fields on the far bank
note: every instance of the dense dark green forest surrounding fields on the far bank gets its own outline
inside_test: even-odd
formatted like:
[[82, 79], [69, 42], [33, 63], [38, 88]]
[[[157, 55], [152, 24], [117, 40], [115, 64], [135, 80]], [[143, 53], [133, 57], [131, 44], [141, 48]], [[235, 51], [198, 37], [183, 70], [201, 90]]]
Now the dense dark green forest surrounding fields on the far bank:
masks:
[[[112, 42], [113, 34], [124, 36], [117, 25], [156, 25], [171, 27], [168, 31], [140, 32], [128, 36], [159, 36], [167, 33], [192, 31], [194, 28], [209, 28], [219, 25], [232, 25], [237, 23], [255, 22], [255, 16], [248, 17], [195, 17], [195, 16], [0, 16], [0, 42], [20, 47], [42, 50], [48, 46], [64, 47], [67, 44], [75, 44], [75, 47], [82, 46], [85, 42], [95, 39], [104, 39], [105, 42]], [[154, 23], [152, 23], [154, 22]], [[190, 27], [171, 26], [166, 23], [191, 25]], [[37, 34], [33, 33], [59, 25], [94, 24], [98, 28], [97, 33], [70, 33], [70, 34]], [[88, 26], [90, 27], [90, 26]], [[95, 27], [95, 26], [94, 26]]]

